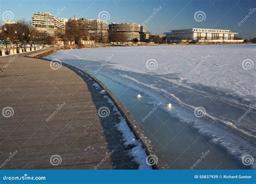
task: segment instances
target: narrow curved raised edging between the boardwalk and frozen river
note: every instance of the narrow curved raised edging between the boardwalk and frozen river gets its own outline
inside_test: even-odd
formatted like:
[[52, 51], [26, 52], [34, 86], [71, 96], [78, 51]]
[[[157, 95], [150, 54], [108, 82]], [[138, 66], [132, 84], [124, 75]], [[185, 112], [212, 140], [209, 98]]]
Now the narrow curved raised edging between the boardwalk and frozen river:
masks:
[[[54, 49], [45, 49], [45, 50], [42, 50], [41, 52], [28, 54], [25, 57], [43, 59], [48, 62], [51, 62], [51, 59], [45, 59], [42, 57], [48, 56], [49, 54], [53, 53], [54, 51], [55, 51]], [[99, 81], [97, 78], [92, 76], [92, 74], [90, 74], [86, 71], [80, 70], [75, 66], [72, 66], [72, 65], [69, 65], [66, 63], [61, 63], [61, 64], [64, 65], [65, 67], [67, 67], [68, 69], [70, 69], [70, 67], [71, 67], [72, 69], [75, 69], [77, 71], [80, 71], [80, 72], [86, 74], [93, 81], [95, 81], [97, 84], [99, 84], [99, 86], [102, 87], [103, 90], [106, 91], [107, 96], [109, 96], [109, 98], [113, 101], [114, 105], [116, 105], [119, 112], [123, 115], [123, 117], [125, 118], [125, 120], [127, 121], [128, 125], [129, 125], [129, 127], [131, 128], [131, 131], [135, 134], [136, 138], [138, 140], [140, 140], [140, 142], [142, 142], [147, 155], [149, 155], [149, 156], [154, 155], [158, 158], [157, 163], [155, 165], [152, 165], [152, 168], [153, 169], [167, 169], [167, 165], [164, 164], [163, 159], [161, 158], [156, 147], [152, 144], [151, 140], [149, 138], [147, 138], [145, 132], [139, 126], [139, 123], [136, 120], [134, 120], [134, 118], [132, 117], [131, 113], [127, 110], [127, 108], [120, 102], [120, 100], [101, 81]]]

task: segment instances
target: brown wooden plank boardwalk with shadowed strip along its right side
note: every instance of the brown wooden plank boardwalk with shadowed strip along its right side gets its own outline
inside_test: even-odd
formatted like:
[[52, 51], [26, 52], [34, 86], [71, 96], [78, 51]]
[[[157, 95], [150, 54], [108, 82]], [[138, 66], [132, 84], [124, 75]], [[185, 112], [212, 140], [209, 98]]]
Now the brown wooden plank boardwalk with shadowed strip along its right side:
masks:
[[93, 81], [23, 56], [0, 58], [0, 169], [138, 168]]

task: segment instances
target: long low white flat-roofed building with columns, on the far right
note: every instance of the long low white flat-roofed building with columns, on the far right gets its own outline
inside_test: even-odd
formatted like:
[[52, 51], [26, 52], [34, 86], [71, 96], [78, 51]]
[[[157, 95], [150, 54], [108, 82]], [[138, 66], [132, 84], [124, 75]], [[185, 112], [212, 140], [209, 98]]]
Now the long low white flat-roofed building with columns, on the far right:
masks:
[[179, 43], [242, 43], [244, 40], [234, 39], [238, 33], [220, 29], [181, 29], [165, 32], [166, 42]]

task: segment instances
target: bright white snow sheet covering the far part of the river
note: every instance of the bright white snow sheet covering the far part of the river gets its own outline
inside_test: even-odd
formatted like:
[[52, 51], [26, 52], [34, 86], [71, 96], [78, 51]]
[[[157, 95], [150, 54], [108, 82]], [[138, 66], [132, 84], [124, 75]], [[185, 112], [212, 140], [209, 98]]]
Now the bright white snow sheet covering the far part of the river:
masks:
[[[154, 73], [164, 78], [176, 74], [177, 83], [195, 83], [223, 88], [241, 97], [256, 97], [256, 67], [244, 70], [242, 62], [255, 63], [255, 45], [175, 45], [108, 47], [87, 50], [57, 51], [58, 59], [82, 59], [103, 62], [120, 70]], [[156, 60], [156, 69], [149, 70], [147, 60]]]

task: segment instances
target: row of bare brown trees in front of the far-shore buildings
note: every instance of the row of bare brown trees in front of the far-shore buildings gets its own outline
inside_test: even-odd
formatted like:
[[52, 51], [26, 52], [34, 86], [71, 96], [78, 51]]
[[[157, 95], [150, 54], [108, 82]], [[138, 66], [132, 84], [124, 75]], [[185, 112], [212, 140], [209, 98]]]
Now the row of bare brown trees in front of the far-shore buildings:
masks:
[[[5, 24], [2, 26], [2, 33], [0, 36], [8, 38], [5, 39], [5, 42], [11, 44], [54, 44], [55, 38], [49, 36], [47, 33], [38, 32], [32, 25], [31, 21], [21, 20], [17, 24]], [[83, 35], [81, 30], [77, 27], [77, 22], [75, 20], [66, 23], [65, 33], [59, 31], [57, 38], [63, 40], [64, 43], [67, 43], [68, 40], [75, 41], [76, 44], [80, 43], [80, 40], [86, 37]], [[129, 42], [124, 33], [109, 31], [109, 39], [103, 40], [102, 37], [90, 37], [96, 42], [107, 43], [107, 42]], [[137, 38], [132, 40], [134, 43], [137, 43], [139, 40]], [[154, 42], [157, 44], [165, 43], [165, 37], [163, 36], [150, 36], [149, 39], [142, 40], [143, 42], [150, 43]]]

